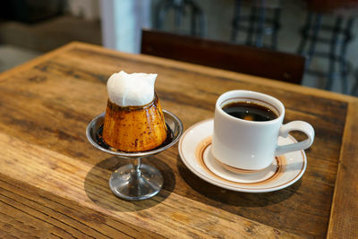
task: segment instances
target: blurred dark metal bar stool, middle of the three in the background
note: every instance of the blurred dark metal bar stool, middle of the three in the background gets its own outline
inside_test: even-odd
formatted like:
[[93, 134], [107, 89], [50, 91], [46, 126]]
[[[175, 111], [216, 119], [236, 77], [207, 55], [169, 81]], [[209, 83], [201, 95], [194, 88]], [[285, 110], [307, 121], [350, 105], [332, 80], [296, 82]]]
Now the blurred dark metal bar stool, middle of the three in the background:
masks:
[[[243, 13], [245, 2], [251, 8], [248, 14]], [[239, 34], [245, 34], [245, 45], [276, 49], [280, 15], [279, 0], [236, 0], [231, 40], [236, 42]], [[265, 36], [270, 36], [268, 44], [264, 43]]]

